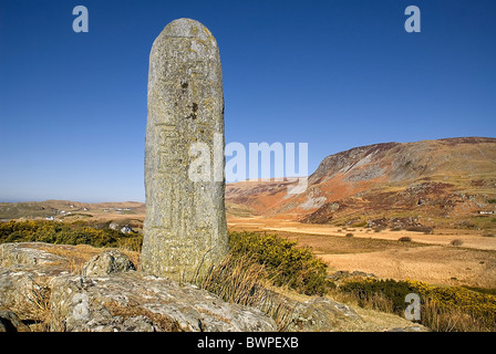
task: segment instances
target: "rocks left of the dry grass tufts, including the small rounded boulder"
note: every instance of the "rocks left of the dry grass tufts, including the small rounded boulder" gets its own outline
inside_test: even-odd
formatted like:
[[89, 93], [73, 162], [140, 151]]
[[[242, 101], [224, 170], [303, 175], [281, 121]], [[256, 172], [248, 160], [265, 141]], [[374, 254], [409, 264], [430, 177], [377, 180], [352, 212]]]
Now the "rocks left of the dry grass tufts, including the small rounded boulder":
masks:
[[[257, 309], [224, 302], [192, 284], [135, 272], [116, 250], [93, 257], [81, 274], [73, 274], [69, 259], [46, 251], [55, 248], [0, 244], [0, 305], [30, 321], [48, 320], [51, 331], [276, 330], [273, 320]], [[37, 311], [43, 306], [44, 314], [50, 313], [45, 319]]]

